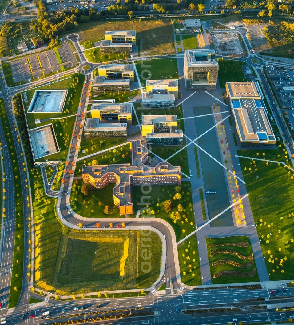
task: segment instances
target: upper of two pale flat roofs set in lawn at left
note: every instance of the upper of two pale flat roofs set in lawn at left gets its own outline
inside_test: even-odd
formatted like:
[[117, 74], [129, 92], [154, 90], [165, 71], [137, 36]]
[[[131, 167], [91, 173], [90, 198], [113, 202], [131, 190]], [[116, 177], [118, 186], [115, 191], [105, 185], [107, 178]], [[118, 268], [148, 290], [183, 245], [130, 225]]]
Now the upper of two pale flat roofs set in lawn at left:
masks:
[[67, 92], [67, 90], [36, 90], [28, 113], [62, 112]]

